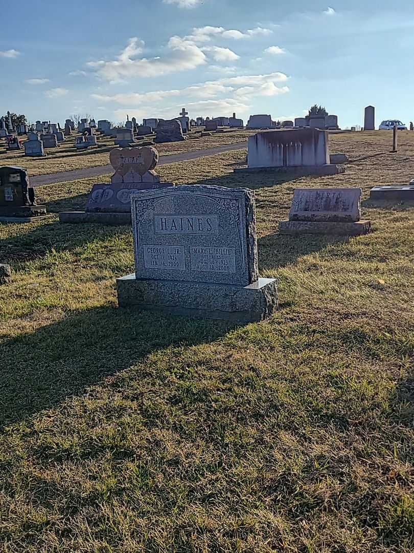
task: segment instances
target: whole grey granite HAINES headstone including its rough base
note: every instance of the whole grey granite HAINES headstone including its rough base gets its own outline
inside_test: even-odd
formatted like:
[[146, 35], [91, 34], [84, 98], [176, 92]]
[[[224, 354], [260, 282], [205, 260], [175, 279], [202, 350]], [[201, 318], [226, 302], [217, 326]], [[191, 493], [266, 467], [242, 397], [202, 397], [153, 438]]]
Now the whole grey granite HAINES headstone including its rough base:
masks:
[[131, 196], [135, 273], [119, 306], [231, 321], [277, 309], [277, 282], [258, 276], [254, 192], [177, 186]]

